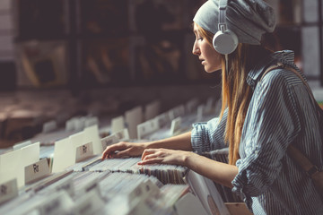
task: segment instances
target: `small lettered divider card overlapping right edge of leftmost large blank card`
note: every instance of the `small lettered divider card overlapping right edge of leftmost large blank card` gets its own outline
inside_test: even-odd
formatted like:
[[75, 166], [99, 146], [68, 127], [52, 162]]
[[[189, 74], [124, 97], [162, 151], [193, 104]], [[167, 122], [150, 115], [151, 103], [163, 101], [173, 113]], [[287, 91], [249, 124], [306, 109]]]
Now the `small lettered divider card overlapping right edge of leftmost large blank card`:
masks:
[[30, 184], [44, 176], [49, 176], [49, 174], [47, 159], [40, 159], [38, 162], [25, 167], [25, 184]]

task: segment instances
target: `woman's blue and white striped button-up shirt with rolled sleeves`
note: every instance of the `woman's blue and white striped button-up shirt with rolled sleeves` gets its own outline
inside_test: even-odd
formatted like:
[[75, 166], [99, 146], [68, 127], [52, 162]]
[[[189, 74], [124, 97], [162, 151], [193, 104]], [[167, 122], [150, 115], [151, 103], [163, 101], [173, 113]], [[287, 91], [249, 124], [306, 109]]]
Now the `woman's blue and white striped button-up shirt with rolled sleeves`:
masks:
[[[322, 196], [286, 154], [292, 144], [322, 170], [315, 106], [292, 71], [275, 69], [260, 81], [266, 68], [277, 62], [299, 70], [293, 60], [292, 51], [275, 52], [257, 64], [247, 78], [254, 91], [242, 128], [236, 163], [239, 173], [232, 181], [232, 191], [243, 196], [254, 214], [323, 214]], [[220, 122], [214, 118], [193, 125], [191, 142], [196, 152], [227, 147], [223, 142], [226, 118], [227, 111]]]

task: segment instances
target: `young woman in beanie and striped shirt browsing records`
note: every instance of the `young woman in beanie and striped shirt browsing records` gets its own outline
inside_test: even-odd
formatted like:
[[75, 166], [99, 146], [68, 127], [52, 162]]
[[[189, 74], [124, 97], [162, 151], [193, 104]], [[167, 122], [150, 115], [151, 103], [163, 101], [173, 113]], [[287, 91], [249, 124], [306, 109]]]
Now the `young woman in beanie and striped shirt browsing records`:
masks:
[[[319, 170], [322, 140], [316, 106], [301, 79], [281, 63], [296, 69], [292, 51], [272, 53], [260, 45], [261, 35], [275, 28], [275, 13], [261, 0], [229, 1], [227, 28], [239, 45], [229, 55], [214, 49], [219, 30], [219, 2], [207, 1], [196, 13], [193, 54], [206, 73], [222, 69], [220, 117], [197, 123], [189, 133], [155, 142], [118, 142], [102, 158], [142, 156], [141, 165], [186, 166], [244, 197], [254, 214], [323, 214], [322, 195], [310, 177], [287, 154], [300, 149]], [[229, 147], [229, 164], [198, 155]]]

